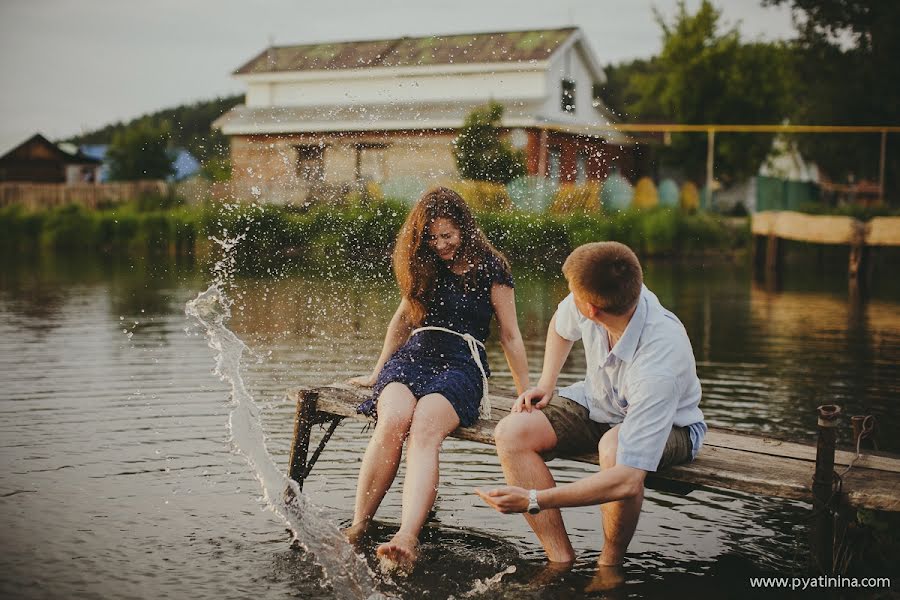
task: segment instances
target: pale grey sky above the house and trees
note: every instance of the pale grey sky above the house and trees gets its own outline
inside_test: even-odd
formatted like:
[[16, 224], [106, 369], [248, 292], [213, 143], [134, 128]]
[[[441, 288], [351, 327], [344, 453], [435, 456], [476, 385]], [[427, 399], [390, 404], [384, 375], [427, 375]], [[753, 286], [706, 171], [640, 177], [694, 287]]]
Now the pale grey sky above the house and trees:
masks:
[[[693, 12], [700, 0], [686, 0]], [[744, 39], [794, 37], [790, 11], [713, 0]], [[0, 0], [0, 154], [186, 102], [242, 93], [276, 45], [581, 27], [601, 64], [661, 48], [677, 0]]]

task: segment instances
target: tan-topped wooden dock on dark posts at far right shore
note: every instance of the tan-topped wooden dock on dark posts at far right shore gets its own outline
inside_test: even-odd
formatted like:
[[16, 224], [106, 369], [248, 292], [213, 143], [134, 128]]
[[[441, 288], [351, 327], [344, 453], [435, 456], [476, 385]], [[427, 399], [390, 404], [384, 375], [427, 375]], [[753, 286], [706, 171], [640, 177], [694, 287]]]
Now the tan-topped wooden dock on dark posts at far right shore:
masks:
[[900, 246], [900, 217], [852, 217], [810, 215], [794, 211], [763, 211], [753, 215], [754, 270], [757, 278], [780, 280], [784, 264], [782, 240], [850, 247], [847, 275], [851, 287], [864, 283], [873, 249]]

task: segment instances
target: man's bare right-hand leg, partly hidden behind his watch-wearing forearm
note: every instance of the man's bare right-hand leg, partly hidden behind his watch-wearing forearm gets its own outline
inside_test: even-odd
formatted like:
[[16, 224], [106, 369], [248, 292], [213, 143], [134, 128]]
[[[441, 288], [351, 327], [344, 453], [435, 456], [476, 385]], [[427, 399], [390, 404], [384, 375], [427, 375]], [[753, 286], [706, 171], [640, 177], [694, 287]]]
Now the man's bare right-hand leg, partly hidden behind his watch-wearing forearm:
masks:
[[[619, 426], [611, 428], [600, 439], [597, 446], [600, 469], [610, 469], [616, 465], [616, 450], [619, 447]], [[625, 561], [625, 552], [634, 532], [638, 518], [641, 516], [641, 505], [644, 492], [627, 500], [607, 502], [600, 505], [603, 516], [603, 551], [597, 560], [598, 565], [605, 567], [621, 566]]]

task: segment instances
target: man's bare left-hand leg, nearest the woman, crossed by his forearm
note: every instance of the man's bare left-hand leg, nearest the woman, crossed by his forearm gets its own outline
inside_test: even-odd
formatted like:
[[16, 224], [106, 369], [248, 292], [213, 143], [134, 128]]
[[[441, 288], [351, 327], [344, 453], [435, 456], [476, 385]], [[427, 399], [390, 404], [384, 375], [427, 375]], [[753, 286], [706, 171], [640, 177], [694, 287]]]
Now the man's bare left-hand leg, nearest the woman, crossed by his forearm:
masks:
[[[494, 430], [494, 441], [509, 485], [539, 490], [556, 486], [550, 469], [540, 456], [540, 452], [556, 447], [556, 432], [540, 410], [503, 417]], [[561, 563], [575, 560], [575, 550], [559, 509], [542, 510], [537, 515], [525, 514], [525, 520], [541, 541], [549, 560]]]

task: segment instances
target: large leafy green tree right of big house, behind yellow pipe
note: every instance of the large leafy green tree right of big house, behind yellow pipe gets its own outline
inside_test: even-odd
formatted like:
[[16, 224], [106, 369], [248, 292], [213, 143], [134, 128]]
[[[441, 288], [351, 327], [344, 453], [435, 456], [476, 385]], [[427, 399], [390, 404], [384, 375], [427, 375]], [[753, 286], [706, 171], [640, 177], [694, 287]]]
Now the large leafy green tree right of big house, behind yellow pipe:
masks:
[[[704, 0], [696, 14], [679, 2], [672, 23], [656, 13], [663, 48], [649, 61], [611, 69], [604, 100], [628, 120], [680, 124], [780, 123], [790, 95], [789, 49], [741, 42], [737, 29], [720, 31], [721, 13]], [[619, 89], [611, 90], [610, 86]], [[772, 146], [771, 134], [716, 137], [716, 175], [726, 182], [757, 172]], [[676, 134], [660, 149], [663, 163], [700, 181], [706, 136]]]

